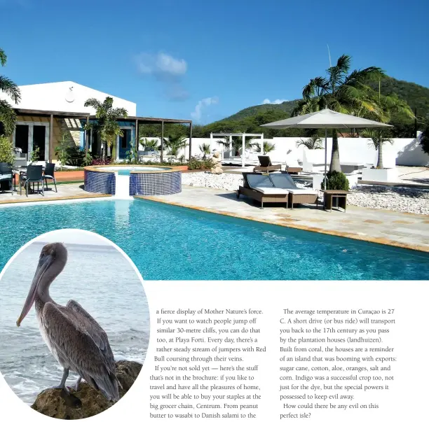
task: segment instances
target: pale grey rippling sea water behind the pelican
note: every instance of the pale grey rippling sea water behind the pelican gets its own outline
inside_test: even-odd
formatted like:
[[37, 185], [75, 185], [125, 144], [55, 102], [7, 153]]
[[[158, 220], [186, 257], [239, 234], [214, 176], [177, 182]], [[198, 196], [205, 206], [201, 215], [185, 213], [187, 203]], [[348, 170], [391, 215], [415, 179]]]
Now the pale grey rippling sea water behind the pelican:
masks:
[[[43, 244], [20, 253], [1, 279], [0, 372], [9, 386], [32, 405], [44, 388], [57, 386], [62, 367], [43, 342], [33, 309], [16, 326]], [[76, 300], [107, 332], [116, 360], [144, 362], [149, 343], [149, 308], [139, 277], [112, 246], [66, 245], [68, 261], [50, 287], [65, 306]], [[76, 381], [70, 373], [67, 385]]]

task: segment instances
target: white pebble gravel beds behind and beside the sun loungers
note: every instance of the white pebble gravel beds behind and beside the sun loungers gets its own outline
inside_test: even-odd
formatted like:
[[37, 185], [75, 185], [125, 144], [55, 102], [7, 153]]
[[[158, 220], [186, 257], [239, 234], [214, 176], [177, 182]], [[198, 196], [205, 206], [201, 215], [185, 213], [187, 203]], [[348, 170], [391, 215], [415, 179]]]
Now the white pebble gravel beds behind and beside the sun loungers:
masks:
[[[243, 176], [241, 174], [210, 174], [209, 172], [184, 173], [182, 183], [205, 188], [237, 190], [238, 186], [243, 185]], [[311, 188], [310, 183], [308, 185], [297, 183], [297, 186]], [[359, 185], [348, 195], [347, 203], [372, 209], [429, 215], [429, 190]]]

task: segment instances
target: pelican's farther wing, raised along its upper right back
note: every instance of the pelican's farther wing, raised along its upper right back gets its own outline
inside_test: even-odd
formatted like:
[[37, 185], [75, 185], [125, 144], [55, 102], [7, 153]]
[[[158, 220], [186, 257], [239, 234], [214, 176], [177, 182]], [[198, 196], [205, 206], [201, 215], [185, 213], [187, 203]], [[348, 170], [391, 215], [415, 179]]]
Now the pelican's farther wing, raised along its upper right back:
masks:
[[100, 352], [104, 356], [109, 367], [113, 370], [115, 367], [114, 355], [111, 351], [107, 334], [101, 328], [100, 324], [97, 323], [97, 321], [95, 321], [95, 319], [74, 300], [69, 300], [69, 302], [67, 302], [66, 309], [69, 309], [72, 312], [72, 314], [69, 314], [68, 312], [67, 314], [76, 321], [79, 328], [93, 339], [93, 342], [97, 345], [98, 349], [100, 349]]

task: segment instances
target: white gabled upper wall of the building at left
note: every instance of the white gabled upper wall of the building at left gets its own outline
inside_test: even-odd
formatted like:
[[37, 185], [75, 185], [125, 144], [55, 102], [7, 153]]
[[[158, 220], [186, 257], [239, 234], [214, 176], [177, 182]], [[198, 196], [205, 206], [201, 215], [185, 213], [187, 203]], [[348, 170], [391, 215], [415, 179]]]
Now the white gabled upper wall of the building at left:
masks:
[[21, 101], [18, 105], [10, 97], [1, 92], [0, 99], [6, 99], [13, 107], [28, 110], [95, 114], [94, 108], [83, 106], [85, 101], [88, 98], [96, 98], [104, 101], [106, 97], [112, 97], [114, 99], [114, 107], [123, 107], [128, 111], [128, 115], [137, 115], [137, 105], [135, 103], [71, 81], [21, 85], [19, 88], [21, 91]]

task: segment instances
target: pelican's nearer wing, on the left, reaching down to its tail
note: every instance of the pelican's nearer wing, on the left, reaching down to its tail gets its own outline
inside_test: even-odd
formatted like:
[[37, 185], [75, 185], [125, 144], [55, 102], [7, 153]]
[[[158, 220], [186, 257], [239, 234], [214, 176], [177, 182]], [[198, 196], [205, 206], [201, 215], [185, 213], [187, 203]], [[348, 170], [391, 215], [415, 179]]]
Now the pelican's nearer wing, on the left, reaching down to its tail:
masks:
[[83, 379], [109, 400], [118, 400], [118, 380], [102, 351], [67, 309], [48, 302], [43, 307], [43, 325], [57, 353]]

